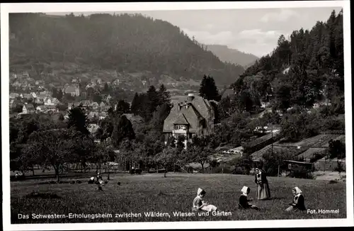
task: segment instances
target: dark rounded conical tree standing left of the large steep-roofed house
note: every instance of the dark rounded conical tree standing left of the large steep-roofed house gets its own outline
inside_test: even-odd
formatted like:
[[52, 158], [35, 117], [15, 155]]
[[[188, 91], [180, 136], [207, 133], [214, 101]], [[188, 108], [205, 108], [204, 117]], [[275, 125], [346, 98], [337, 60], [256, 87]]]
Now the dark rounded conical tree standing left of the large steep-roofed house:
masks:
[[125, 116], [120, 116], [112, 133], [112, 143], [114, 147], [119, 147], [123, 140], [135, 139], [135, 132], [132, 123]]

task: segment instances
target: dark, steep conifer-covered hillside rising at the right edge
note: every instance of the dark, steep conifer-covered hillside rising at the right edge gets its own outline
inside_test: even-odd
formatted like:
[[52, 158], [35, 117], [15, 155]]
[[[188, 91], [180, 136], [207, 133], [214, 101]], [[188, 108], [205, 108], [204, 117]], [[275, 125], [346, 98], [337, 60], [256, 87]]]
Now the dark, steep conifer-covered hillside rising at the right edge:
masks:
[[[274, 108], [312, 107], [316, 101], [343, 101], [343, 12], [312, 30], [281, 35], [272, 55], [261, 57], [232, 87], [259, 98], [273, 95]], [[246, 90], [245, 90], [246, 89]]]

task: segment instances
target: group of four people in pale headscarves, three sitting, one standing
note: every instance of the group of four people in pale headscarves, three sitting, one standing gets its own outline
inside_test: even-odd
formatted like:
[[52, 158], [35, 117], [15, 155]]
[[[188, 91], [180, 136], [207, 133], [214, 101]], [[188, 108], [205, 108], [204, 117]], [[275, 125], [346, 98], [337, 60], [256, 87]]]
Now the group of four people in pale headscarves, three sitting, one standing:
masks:
[[[265, 176], [265, 173], [260, 169], [255, 170], [255, 183], [257, 184], [256, 198], [258, 200], [267, 200], [270, 199], [270, 188], [268, 185], [268, 180]], [[241, 196], [239, 197], [239, 209], [254, 209], [259, 210], [256, 205], [250, 203], [252, 198], [249, 198], [249, 193], [251, 188], [244, 186], [241, 189]], [[290, 207], [285, 209], [287, 212], [297, 211], [297, 210], [306, 210], [304, 205], [304, 196], [300, 188], [292, 188], [293, 200], [290, 203]], [[205, 210], [208, 212], [216, 211], [217, 207], [215, 205], [210, 205], [209, 203], [203, 201], [205, 197], [205, 191], [202, 188], [198, 188], [197, 196], [193, 200], [193, 211]]]

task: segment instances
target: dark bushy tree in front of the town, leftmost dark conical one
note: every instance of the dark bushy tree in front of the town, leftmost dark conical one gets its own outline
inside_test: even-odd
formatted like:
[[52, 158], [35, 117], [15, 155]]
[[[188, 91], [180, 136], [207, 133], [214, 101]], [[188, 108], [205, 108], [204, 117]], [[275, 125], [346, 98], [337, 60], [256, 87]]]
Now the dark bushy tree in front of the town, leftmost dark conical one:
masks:
[[74, 107], [69, 110], [68, 128], [74, 128], [84, 135], [89, 135], [89, 120], [84, 113], [83, 108]]

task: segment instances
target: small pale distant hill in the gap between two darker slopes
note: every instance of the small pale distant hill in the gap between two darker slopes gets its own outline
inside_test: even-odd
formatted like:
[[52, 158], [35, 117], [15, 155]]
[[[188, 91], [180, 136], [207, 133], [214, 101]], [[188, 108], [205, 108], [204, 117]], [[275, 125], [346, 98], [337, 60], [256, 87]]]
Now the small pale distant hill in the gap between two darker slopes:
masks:
[[239, 50], [231, 49], [226, 45], [206, 45], [207, 50], [213, 52], [219, 57], [222, 62], [230, 62], [232, 64], [239, 64], [242, 67], [251, 66], [254, 64], [258, 57], [252, 54], [246, 54]]

